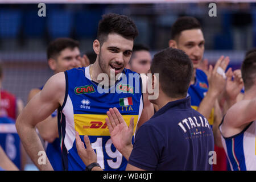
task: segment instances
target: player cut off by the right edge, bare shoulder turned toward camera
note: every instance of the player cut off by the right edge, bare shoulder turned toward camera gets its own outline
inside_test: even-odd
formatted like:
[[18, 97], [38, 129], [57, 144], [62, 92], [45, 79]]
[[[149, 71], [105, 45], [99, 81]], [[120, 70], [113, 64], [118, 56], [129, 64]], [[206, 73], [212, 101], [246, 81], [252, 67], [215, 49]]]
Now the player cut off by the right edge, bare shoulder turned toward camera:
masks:
[[[242, 101], [234, 104], [219, 126], [222, 144], [230, 166], [235, 171], [256, 170], [256, 52], [246, 54], [242, 63], [245, 93]], [[239, 84], [240, 80], [237, 79]]]

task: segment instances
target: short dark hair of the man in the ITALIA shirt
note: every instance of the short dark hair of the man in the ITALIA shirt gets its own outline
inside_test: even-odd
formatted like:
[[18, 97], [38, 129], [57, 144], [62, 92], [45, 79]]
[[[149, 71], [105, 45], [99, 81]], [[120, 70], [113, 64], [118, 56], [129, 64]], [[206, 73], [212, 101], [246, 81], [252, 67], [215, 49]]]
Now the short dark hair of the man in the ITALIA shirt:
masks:
[[151, 73], [159, 73], [161, 88], [168, 97], [186, 97], [192, 78], [193, 64], [184, 51], [167, 48], [154, 56]]

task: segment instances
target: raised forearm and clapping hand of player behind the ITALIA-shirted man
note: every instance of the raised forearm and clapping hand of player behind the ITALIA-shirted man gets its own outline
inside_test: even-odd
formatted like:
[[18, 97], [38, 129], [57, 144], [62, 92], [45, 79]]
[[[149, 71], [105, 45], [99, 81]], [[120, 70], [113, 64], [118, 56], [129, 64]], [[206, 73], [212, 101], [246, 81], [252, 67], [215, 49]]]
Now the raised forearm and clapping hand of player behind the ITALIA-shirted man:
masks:
[[218, 67], [220, 67], [225, 71], [226, 67], [228, 66], [228, 63], [229, 58], [225, 57], [224, 59], [224, 56], [221, 56], [220, 59], [217, 61], [216, 65], [214, 66], [214, 68], [212, 68], [212, 66], [210, 66], [209, 68], [209, 90], [204, 99], [201, 101], [199, 108], [197, 109], [197, 111], [203, 114], [205, 118], [210, 117], [210, 112], [212, 111], [214, 103], [218, 95], [222, 92], [222, 90], [225, 87], [225, 78], [217, 72], [217, 69]]

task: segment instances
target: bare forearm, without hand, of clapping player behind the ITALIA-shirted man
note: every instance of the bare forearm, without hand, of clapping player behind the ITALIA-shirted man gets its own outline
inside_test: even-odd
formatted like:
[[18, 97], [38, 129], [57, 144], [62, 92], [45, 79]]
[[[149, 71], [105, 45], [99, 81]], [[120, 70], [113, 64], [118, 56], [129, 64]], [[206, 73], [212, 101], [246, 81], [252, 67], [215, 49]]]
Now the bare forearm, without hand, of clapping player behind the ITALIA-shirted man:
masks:
[[217, 99], [217, 96], [218, 96], [217, 93], [214, 93], [211, 90], [209, 90], [207, 92], [207, 95], [201, 101], [197, 111], [199, 111], [199, 113], [203, 114], [205, 118], [210, 117], [210, 112], [212, 111], [212, 108]]

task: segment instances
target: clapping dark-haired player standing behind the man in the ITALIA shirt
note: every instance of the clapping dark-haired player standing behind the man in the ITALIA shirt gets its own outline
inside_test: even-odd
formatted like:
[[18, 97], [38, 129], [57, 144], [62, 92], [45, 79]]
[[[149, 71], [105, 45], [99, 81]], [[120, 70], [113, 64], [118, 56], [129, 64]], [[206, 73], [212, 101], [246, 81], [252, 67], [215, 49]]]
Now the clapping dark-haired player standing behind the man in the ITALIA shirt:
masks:
[[[217, 69], [220, 67], [225, 71], [229, 63], [229, 57], [221, 56], [214, 68], [210, 65], [208, 75], [206, 75], [198, 69], [204, 55], [204, 44], [203, 31], [197, 19], [183, 16], [172, 24], [169, 47], [183, 50], [192, 60], [194, 71], [188, 95], [191, 96], [192, 107], [208, 118], [210, 125], [213, 127], [214, 143], [218, 149], [217, 146], [222, 147], [218, 131], [222, 113], [217, 99], [222, 90], [225, 89], [226, 80], [217, 72]], [[226, 170], [225, 152], [221, 148], [217, 151], [217, 165], [214, 165], [213, 168], [215, 166], [218, 170]]]

